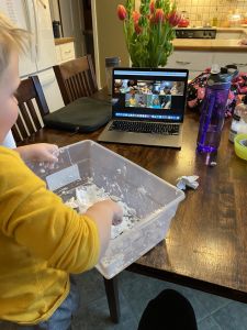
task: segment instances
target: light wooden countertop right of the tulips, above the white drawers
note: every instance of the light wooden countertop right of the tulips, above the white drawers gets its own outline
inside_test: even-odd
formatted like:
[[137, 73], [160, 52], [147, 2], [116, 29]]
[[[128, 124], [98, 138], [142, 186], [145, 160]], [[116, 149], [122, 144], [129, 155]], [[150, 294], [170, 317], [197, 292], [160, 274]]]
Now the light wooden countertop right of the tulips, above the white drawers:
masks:
[[239, 40], [175, 38], [172, 44], [175, 51], [247, 53], [247, 45], [240, 45]]

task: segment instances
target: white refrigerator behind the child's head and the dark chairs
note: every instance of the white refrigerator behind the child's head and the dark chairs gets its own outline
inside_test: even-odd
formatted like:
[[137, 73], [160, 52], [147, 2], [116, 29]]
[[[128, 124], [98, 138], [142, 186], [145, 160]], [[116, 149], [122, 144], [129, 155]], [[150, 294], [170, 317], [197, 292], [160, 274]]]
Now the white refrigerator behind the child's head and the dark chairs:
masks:
[[0, 11], [32, 38], [25, 55], [20, 56], [20, 76], [37, 75], [49, 110], [64, 106], [53, 66], [57, 64], [48, 0], [0, 0]]

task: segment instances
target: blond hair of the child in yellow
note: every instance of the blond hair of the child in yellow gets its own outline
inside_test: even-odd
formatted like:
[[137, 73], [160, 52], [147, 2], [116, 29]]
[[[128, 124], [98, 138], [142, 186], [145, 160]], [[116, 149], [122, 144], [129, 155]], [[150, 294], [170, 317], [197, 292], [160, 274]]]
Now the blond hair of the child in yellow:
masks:
[[16, 28], [0, 12], [0, 79], [9, 65], [11, 52], [23, 53], [29, 40], [27, 31]]

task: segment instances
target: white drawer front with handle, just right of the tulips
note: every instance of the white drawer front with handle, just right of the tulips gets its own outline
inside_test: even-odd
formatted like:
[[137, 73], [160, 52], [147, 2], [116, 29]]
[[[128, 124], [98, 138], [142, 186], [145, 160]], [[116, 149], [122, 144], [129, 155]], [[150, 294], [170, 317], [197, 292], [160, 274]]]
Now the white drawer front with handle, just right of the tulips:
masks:
[[189, 69], [189, 79], [193, 79], [212, 62], [212, 52], [175, 51], [168, 58], [167, 67]]

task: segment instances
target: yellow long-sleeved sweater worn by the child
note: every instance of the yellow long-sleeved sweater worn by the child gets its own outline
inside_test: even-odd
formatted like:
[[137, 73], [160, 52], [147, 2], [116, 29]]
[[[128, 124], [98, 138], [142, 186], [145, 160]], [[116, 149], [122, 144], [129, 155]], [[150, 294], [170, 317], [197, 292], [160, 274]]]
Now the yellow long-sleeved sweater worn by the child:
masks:
[[94, 222], [0, 146], [0, 319], [48, 319], [68, 295], [68, 273], [94, 266], [99, 246]]

